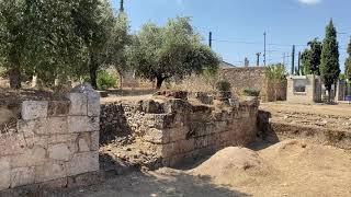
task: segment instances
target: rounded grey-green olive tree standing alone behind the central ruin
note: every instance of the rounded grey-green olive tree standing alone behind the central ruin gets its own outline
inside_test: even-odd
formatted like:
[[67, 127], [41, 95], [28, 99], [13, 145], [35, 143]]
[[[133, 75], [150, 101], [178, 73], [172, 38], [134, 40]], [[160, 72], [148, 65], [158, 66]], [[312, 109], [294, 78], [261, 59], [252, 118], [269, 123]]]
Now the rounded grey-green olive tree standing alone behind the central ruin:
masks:
[[169, 20], [166, 26], [145, 24], [128, 48], [128, 62], [136, 74], [157, 80], [182, 79], [193, 72], [217, 70], [219, 58], [201, 42], [189, 18]]

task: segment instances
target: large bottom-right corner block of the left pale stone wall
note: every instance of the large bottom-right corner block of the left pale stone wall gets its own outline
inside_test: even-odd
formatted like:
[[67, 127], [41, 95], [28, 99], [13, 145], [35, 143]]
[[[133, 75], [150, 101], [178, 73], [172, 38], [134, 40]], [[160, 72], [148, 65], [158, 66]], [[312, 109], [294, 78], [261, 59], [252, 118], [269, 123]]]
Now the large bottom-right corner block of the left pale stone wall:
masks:
[[68, 176], [99, 171], [99, 152], [77, 153], [66, 163], [66, 167]]

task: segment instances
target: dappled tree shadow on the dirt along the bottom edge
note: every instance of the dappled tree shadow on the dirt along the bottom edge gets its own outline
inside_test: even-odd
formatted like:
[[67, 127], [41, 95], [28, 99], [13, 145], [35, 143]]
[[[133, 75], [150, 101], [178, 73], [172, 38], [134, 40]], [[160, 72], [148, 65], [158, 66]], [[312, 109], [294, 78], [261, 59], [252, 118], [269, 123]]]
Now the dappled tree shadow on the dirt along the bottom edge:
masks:
[[211, 183], [210, 177], [195, 177], [179, 171], [166, 170], [168, 172], [134, 172], [127, 176], [109, 179], [99, 185], [66, 190], [50, 196], [70, 197], [235, 197], [250, 196], [225, 186], [217, 186]]

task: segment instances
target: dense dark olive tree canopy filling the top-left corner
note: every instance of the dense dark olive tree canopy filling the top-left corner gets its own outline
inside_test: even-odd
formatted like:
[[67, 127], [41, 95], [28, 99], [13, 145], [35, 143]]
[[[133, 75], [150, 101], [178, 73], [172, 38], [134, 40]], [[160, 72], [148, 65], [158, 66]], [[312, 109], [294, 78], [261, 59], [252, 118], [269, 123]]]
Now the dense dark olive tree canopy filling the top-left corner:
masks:
[[109, 0], [0, 0], [0, 65], [12, 88], [21, 73], [89, 74], [97, 86], [99, 68], [122, 61], [127, 36], [127, 16]]

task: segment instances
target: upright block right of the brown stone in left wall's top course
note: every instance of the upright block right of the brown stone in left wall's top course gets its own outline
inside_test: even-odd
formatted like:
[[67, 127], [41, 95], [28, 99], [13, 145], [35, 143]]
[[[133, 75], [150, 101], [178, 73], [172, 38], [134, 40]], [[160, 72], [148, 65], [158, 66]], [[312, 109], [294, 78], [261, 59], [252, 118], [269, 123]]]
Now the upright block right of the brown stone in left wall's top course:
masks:
[[69, 115], [86, 116], [88, 114], [88, 99], [82, 93], [69, 93], [70, 101]]

